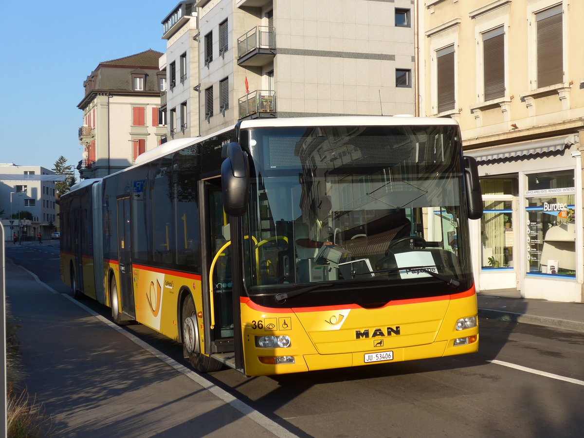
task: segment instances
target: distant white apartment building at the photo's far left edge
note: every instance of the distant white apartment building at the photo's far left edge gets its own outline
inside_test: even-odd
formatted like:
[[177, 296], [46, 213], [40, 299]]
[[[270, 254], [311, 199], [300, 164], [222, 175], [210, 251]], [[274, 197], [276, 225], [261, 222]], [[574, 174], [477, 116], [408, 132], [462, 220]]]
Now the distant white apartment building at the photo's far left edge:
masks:
[[61, 179], [53, 175], [41, 166], [0, 163], [0, 210], [4, 210], [2, 225], [7, 240], [13, 234], [23, 240], [35, 239], [39, 232], [44, 239], [50, 238], [57, 224], [55, 180]]

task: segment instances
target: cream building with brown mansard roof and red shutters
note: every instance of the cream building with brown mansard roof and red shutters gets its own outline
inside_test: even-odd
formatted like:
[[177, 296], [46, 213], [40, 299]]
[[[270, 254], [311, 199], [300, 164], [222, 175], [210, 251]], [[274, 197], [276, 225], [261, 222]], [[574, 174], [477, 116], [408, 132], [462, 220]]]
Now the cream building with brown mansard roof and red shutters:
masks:
[[147, 50], [100, 62], [84, 82], [79, 142], [84, 146], [77, 169], [81, 178], [100, 178], [132, 165], [138, 155], [157, 147], [166, 135], [160, 120], [162, 53]]

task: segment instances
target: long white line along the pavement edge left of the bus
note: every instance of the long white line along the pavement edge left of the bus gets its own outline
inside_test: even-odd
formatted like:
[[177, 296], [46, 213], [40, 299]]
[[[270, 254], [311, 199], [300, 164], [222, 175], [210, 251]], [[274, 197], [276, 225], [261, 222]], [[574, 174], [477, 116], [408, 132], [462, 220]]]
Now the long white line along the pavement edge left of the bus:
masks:
[[[22, 269], [24, 269], [26, 272], [28, 272], [33, 277], [33, 279], [37, 281], [37, 283], [40, 283], [42, 286], [46, 287], [52, 293], [61, 294], [60, 292], [54, 290], [54, 288], [48, 286], [48, 284], [43, 283], [43, 281], [41, 281], [39, 279], [39, 277], [36, 276], [36, 274], [30, 272], [28, 269], [26, 269], [26, 267], [23, 267], [23, 266], [20, 266], [20, 267]], [[84, 309], [86, 312], [91, 314], [93, 317], [99, 319], [99, 321], [103, 322], [103, 324], [110, 326], [111, 328], [113, 328], [117, 332], [126, 336], [126, 338], [130, 339], [136, 345], [142, 347], [148, 353], [152, 354], [152, 356], [157, 357], [158, 359], [160, 359], [161, 361], [163, 361], [167, 365], [171, 366], [173, 369], [179, 371], [179, 373], [182, 373], [186, 377], [190, 378], [190, 380], [194, 381], [195, 383], [198, 383], [199, 385], [201, 385], [201, 387], [205, 388], [207, 391], [211, 392], [211, 394], [215, 395], [215, 397], [224, 401], [225, 403], [230, 405], [232, 408], [237, 409], [239, 412], [243, 413], [246, 417], [248, 417], [252, 421], [258, 423], [258, 425], [262, 426], [264, 429], [268, 430], [269, 432], [272, 432], [274, 434], [274, 436], [277, 436], [279, 438], [298, 438], [298, 436], [295, 435], [294, 433], [290, 432], [289, 430], [286, 430], [284, 427], [282, 427], [278, 423], [274, 422], [274, 420], [270, 420], [262, 413], [253, 409], [251, 406], [246, 405], [244, 402], [242, 402], [238, 398], [235, 398], [229, 392], [221, 389], [220, 387], [218, 387], [217, 385], [212, 383], [210, 380], [207, 380], [207, 378], [205, 378], [204, 376], [201, 376], [201, 374], [197, 374], [193, 370], [190, 370], [187, 367], [181, 365], [176, 360], [171, 359], [171, 357], [166, 356], [166, 354], [159, 352], [157, 349], [148, 345], [140, 338], [137, 338], [137, 336], [134, 336], [132, 333], [127, 332], [126, 330], [121, 328], [119, 325], [114, 324], [112, 321], [109, 321], [109, 319], [102, 317], [102, 315], [94, 312], [86, 305], [79, 303], [79, 301], [70, 297], [68, 294], [61, 294], [61, 295], [65, 298], [67, 298], [67, 300], [71, 301], [72, 303], [77, 304], [79, 307]]]

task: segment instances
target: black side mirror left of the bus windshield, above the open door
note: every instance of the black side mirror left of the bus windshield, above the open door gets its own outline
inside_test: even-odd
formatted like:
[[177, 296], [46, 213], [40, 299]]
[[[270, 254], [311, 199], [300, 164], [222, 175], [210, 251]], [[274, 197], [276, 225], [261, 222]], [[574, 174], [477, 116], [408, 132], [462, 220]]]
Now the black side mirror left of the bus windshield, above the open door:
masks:
[[237, 142], [223, 146], [221, 156], [221, 187], [223, 187], [223, 208], [230, 216], [245, 214], [249, 193], [248, 154]]

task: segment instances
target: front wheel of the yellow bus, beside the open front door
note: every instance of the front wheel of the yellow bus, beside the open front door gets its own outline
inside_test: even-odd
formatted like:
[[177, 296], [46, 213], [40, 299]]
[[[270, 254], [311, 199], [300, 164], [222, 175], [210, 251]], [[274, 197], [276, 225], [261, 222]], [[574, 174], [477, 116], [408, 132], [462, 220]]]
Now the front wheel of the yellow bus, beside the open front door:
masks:
[[190, 294], [183, 301], [181, 314], [183, 354], [185, 359], [189, 359], [193, 368], [201, 373], [220, 370], [223, 367], [221, 362], [201, 353], [197, 312], [194, 310], [193, 297]]

